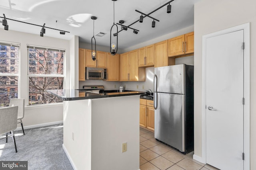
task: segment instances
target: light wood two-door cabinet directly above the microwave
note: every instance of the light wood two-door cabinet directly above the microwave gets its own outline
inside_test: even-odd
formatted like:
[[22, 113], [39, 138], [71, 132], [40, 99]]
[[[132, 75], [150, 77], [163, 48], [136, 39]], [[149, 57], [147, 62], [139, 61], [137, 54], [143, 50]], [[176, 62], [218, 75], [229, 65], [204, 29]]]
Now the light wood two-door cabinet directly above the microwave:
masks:
[[86, 67], [98, 67], [98, 68], [107, 67], [107, 52], [96, 51], [96, 60], [92, 60], [92, 51], [86, 49], [85, 58], [86, 58], [86, 61], [85, 61]]

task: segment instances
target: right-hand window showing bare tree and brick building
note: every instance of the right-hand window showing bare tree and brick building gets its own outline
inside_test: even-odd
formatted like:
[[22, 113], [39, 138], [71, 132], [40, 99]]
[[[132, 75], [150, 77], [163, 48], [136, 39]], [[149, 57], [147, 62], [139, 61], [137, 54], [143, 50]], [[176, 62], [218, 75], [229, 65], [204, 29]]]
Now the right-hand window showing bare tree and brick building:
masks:
[[28, 45], [29, 105], [62, 102], [48, 90], [63, 89], [63, 56], [65, 56], [64, 50]]

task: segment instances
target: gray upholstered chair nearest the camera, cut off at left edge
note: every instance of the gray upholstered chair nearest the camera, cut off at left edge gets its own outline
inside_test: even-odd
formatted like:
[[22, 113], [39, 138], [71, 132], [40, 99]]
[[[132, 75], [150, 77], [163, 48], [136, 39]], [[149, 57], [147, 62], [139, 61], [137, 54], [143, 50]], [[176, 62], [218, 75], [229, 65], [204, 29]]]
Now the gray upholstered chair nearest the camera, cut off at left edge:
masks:
[[[0, 108], [0, 135], [6, 134], [6, 139], [12, 136], [16, 152], [17, 147], [13, 131], [17, 128], [17, 118], [18, 106]], [[11, 134], [8, 135], [8, 132], [11, 132]]]

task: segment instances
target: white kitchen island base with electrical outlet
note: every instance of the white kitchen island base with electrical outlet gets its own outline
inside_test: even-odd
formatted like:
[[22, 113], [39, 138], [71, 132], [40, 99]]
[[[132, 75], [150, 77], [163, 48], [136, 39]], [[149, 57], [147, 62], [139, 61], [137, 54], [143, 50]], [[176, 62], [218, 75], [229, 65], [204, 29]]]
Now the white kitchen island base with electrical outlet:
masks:
[[63, 101], [62, 146], [74, 170], [139, 170], [139, 105], [139, 95]]

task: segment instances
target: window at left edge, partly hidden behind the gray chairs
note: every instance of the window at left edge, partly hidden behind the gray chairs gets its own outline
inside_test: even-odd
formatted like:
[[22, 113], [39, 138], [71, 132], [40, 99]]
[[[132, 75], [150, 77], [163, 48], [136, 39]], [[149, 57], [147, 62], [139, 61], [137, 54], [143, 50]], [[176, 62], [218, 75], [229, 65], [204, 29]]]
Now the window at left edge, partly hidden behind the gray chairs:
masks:
[[11, 98], [18, 98], [20, 47], [0, 42], [0, 50], [0, 107], [5, 107]]

